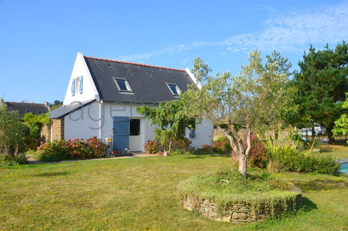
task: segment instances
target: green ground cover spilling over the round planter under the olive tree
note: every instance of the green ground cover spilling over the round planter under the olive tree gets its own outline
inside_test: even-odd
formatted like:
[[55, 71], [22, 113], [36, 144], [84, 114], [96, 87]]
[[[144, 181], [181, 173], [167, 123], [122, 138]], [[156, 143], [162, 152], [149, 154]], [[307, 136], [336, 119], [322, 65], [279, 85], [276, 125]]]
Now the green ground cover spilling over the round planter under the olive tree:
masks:
[[288, 208], [288, 202], [295, 206], [298, 193], [291, 192], [295, 186], [290, 182], [274, 179], [271, 175], [265, 176], [266, 172], [260, 175], [253, 173], [246, 179], [235, 170], [192, 176], [180, 183], [179, 203], [182, 204], [182, 200], [186, 198], [193, 198], [197, 206], [203, 199], [214, 201], [217, 213], [220, 214], [228, 206], [237, 203], [251, 206], [255, 215], [261, 210], [266, 210], [266, 214], [270, 216], [274, 216], [276, 212], [293, 210], [294, 207]]

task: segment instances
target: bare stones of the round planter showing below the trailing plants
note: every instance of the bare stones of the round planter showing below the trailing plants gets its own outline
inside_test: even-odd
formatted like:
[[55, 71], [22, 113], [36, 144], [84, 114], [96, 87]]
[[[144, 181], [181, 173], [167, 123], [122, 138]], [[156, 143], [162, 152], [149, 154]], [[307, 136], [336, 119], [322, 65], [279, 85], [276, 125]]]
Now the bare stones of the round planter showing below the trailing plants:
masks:
[[[295, 210], [298, 210], [301, 205], [302, 195], [299, 194], [296, 197]], [[183, 206], [188, 210], [193, 210], [196, 207], [194, 199], [190, 197], [183, 200]], [[288, 209], [292, 208], [290, 204], [288, 204], [288, 206]], [[258, 214], [253, 214], [250, 205], [245, 203], [231, 204], [226, 210], [220, 213], [222, 215], [218, 215], [216, 209], [216, 203], [208, 200], [203, 200], [203, 202], [201, 202], [198, 206], [199, 213], [208, 217], [209, 219], [215, 219], [217, 221], [240, 223], [263, 221], [263, 219], [269, 217], [264, 210], [260, 211]], [[283, 211], [276, 211], [276, 214], [280, 214], [282, 212]]]

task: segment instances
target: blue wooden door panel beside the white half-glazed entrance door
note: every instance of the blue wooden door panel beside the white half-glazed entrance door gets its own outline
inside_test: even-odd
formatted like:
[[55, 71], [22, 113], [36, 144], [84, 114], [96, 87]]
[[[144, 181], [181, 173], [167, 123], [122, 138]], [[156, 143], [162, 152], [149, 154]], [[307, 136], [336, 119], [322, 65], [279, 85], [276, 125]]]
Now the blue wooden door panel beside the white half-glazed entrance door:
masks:
[[129, 117], [113, 117], [113, 150], [129, 149]]

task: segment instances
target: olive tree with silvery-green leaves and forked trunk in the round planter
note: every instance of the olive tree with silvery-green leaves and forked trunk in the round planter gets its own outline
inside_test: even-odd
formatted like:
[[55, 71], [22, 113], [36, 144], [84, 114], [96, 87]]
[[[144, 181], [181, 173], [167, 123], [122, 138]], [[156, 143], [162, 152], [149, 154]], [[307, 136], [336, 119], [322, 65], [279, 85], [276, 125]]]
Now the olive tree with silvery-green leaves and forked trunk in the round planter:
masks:
[[[211, 122], [229, 139], [238, 155], [239, 172], [245, 178], [251, 134], [272, 122], [284, 91], [277, 86], [284, 86], [287, 81], [286, 74], [277, 71], [277, 62], [262, 65], [259, 51], [249, 53], [247, 60], [248, 64], [242, 65], [236, 76], [231, 76], [229, 71], [212, 76], [212, 69], [197, 57], [193, 60], [192, 73], [201, 88], [197, 90], [192, 85], [181, 95], [187, 102], [189, 117], [200, 116]], [[245, 137], [238, 134], [238, 127], [245, 128]]]

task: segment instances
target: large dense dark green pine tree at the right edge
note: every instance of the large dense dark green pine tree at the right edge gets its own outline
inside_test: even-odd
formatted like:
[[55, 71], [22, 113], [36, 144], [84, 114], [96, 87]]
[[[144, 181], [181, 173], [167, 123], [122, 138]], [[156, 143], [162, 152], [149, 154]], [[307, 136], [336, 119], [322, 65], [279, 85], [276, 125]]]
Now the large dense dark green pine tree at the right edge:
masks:
[[310, 45], [292, 83], [298, 89], [294, 99], [302, 119], [311, 118], [325, 127], [332, 143], [334, 121], [342, 114], [342, 102], [348, 92], [348, 46], [343, 40], [335, 50], [329, 49], [328, 44], [324, 48], [316, 51]]

